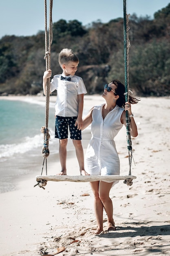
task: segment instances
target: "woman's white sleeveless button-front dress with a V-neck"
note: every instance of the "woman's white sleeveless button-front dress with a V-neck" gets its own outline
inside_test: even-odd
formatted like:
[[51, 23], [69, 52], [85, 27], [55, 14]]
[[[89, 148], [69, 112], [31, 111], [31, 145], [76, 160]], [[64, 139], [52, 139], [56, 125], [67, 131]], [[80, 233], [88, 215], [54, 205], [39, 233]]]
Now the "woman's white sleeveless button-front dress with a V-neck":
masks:
[[119, 175], [120, 161], [114, 138], [123, 127], [120, 118], [124, 109], [116, 105], [103, 119], [103, 106], [95, 106], [93, 109], [92, 137], [86, 150], [85, 170], [91, 175]]

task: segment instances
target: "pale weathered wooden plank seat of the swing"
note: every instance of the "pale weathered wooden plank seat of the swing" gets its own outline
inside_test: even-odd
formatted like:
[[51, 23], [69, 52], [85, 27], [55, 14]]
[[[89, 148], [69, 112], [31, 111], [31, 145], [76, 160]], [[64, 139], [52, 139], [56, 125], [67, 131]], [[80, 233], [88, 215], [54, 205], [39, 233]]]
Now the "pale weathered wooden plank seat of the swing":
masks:
[[136, 176], [131, 175], [107, 175], [107, 176], [100, 176], [100, 175], [45, 175], [45, 176], [36, 176], [36, 181], [39, 182], [41, 180], [46, 181], [71, 181], [71, 182], [93, 182], [93, 181], [105, 181], [105, 182], [112, 182], [115, 180], [127, 180], [127, 179], [136, 179]]

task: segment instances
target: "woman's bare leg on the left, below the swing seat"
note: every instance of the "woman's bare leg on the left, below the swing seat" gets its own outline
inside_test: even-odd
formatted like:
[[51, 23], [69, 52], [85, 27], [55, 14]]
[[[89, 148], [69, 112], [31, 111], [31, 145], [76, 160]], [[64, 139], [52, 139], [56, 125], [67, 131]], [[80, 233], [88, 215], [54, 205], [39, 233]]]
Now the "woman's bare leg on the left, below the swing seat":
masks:
[[94, 194], [94, 209], [97, 221], [97, 229], [95, 234], [100, 234], [103, 231], [103, 204], [99, 198], [99, 181], [90, 182]]

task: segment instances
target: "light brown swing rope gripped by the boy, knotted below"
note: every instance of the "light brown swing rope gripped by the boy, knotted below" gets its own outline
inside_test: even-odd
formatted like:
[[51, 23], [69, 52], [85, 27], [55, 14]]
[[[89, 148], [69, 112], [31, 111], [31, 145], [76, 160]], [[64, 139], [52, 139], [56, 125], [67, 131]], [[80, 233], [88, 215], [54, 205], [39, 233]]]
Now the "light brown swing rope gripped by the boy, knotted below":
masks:
[[[45, 56], [44, 59], [46, 60], [46, 71], [51, 68], [51, 44], [53, 40], [53, 33], [52, 33], [52, 8], [53, 8], [53, 0], [50, 0], [49, 2], [49, 34], [47, 30], [47, 8], [46, 8], [46, 0], [44, 0], [44, 15], [45, 15]], [[46, 81], [46, 107], [45, 107], [45, 126], [41, 128], [41, 132], [44, 134], [44, 144], [42, 146], [42, 156], [43, 156], [43, 162], [42, 162], [42, 170], [41, 175], [44, 168], [44, 163], [46, 166], [46, 175], [47, 175], [47, 157], [50, 154], [49, 151], [49, 102], [50, 102], [50, 78]], [[47, 181], [46, 180], [40, 180], [38, 181], [38, 184], [35, 186], [39, 186], [40, 188], [44, 189], [44, 186], [46, 186]], [[35, 187], [34, 186], [34, 187]]]

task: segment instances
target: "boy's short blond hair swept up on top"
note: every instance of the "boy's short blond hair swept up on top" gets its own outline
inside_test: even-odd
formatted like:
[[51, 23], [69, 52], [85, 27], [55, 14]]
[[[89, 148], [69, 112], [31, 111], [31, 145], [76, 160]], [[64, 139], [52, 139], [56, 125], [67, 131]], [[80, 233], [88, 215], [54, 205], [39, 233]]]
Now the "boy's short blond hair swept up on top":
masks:
[[71, 49], [62, 49], [58, 56], [58, 62], [60, 64], [60, 67], [62, 67], [63, 64], [66, 64], [70, 61], [79, 62], [79, 58], [72, 52]]

